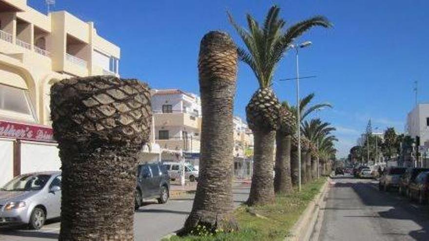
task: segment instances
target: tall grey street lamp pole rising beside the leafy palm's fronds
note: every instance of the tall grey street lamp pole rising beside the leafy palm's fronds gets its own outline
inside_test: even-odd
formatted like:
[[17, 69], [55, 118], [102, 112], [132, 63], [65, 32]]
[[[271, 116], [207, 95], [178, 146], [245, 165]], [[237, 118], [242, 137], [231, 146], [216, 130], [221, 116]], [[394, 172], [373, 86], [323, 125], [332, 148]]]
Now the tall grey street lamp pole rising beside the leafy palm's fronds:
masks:
[[299, 110], [300, 101], [299, 101], [299, 60], [298, 52], [299, 49], [308, 47], [312, 44], [311, 41], [305, 41], [301, 44], [291, 44], [289, 48], [295, 49], [296, 56], [296, 135], [298, 136], [298, 190], [301, 191], [301, 113]]

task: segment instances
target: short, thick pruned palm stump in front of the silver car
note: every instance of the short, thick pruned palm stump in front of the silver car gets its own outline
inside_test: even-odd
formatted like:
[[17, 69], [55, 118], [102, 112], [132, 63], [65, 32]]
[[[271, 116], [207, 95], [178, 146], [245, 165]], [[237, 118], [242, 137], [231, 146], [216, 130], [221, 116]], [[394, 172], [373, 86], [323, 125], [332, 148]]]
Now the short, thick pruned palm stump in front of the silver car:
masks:
[[59, 240], [133, 240], [137, 152], [148, 141], [147, 85], [113, 76], [51, 89], [62, 170]]

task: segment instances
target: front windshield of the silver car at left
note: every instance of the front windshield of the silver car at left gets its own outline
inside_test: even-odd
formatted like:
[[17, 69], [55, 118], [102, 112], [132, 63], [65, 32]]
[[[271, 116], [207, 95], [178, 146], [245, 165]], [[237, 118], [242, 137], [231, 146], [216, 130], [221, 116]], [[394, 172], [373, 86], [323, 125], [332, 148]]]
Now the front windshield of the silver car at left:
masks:
[[42, 189], [51, 175], [26, 174], [18, 176], [1, 188], [2, 191], [37, 191]]

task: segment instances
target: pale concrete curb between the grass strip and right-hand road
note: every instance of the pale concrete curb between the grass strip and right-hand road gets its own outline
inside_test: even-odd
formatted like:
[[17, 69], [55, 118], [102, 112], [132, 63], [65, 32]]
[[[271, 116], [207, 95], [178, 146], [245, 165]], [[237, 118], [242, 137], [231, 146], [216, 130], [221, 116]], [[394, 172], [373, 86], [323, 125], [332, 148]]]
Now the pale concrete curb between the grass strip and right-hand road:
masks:
[[330, 182], [331, 178], [328, 178], [320, 189], [320, 192], [316, 195], [314, 200], [308, 204], [299, 220], [293, 225], [289, 237], [287, 237], [285, 241], [308, 241], [311, 239], [317, 218], [320, 215], [320, 206], [328, 193]]

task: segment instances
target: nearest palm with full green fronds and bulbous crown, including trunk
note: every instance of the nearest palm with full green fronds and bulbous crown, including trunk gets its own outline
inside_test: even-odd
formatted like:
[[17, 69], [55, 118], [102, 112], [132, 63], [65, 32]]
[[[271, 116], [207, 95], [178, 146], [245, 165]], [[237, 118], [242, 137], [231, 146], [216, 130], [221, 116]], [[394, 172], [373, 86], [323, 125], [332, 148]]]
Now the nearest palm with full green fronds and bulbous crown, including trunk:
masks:
[[254, 133], [254, 173], [247, 204], [265, 204], [274, 201], [273, 146], [275, 131], [279, 128], [281, 105], [271, 89], [274, 70], [293, 40], [314, 26], [330, 27], [331, 23], [321, 16], [293, 24], [283, 31], [285, 21], [279, 19], [280, 8], [268, 11], [262, 26], [247, 14], [248, 30], [245, 30], [228, 13], [229, 20], [246, 45], [238, 48], [239, 59], [253, 70], [259, 89], [246, 107], [249, 128]]

